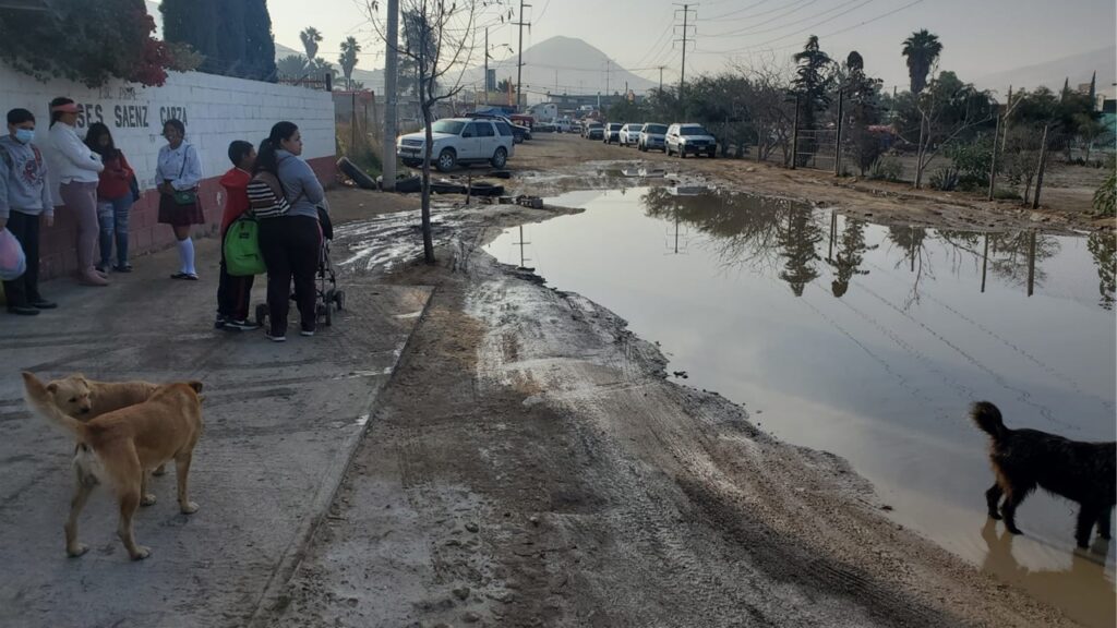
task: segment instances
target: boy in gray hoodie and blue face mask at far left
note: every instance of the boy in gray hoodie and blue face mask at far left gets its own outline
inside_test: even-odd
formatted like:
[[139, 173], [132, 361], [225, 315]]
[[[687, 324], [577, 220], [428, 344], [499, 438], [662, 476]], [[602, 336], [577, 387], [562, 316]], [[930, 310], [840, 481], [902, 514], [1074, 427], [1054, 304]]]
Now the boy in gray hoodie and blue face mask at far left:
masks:
[[39, 223], [55, 223], [55, 206], [47, 185], [47, 164], [35, 139], [35, 115], [8, 112], [8, 135], [0, 137], [0, 229], [7, 228], [27, 256], [27, 272], [3, 283], [8, 312], [34, 316], [55, 304], [39, 294]]

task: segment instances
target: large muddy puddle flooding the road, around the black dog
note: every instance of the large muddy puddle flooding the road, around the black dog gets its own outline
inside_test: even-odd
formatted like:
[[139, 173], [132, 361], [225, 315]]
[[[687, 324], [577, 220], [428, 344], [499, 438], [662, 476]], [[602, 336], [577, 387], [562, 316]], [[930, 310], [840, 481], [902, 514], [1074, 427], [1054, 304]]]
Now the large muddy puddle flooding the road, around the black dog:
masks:
[[1011, 427], [1115, 438], [1113, 238], [889, 228], [666, 188], [554, 202], [586, 211], [488, 250], [610, 307], [761, 428], [846, 457], [896, 521], [1114, 626], [1114, 549], [1073, 551], [1075, 507], [1046, 494], [1018, 512], [1024, 536], [990, 525], [966, 417], [989, 399]]

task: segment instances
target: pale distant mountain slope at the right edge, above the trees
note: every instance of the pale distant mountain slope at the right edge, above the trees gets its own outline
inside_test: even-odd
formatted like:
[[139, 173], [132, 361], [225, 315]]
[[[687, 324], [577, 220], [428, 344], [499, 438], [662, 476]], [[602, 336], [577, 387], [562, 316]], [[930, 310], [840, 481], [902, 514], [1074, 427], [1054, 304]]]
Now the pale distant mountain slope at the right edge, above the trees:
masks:
[[1113, 97], [1113, 84], [1117, 77], [1117, 46], [987, 74], [973, 83], [980, 88], [994, 89], [1002, 95], [1009, 93], [1010, 85], [1014, 91], [1022, 87], [1034, 89], [1043, 85], [1058, 92], [1062, 89], [1063, 80], [1067, 79], [1070, 79], [1071, 89], [1077, 89], [1079, 85], [1089, 83], [1095, 70], [1098, 73], [1098, 94], [1108, 94]]

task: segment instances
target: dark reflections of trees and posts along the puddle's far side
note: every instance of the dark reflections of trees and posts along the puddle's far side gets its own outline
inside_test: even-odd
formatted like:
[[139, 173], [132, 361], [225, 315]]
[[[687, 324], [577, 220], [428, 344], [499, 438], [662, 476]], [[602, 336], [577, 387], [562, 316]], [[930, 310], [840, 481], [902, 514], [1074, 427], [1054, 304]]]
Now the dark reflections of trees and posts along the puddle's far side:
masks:
[[[623, 193], [623, 190], [622, 190]], [[795, 296], [802, 296], [808, 284], [821, 276], [819, 244], [828, 239], [825, 264], [833, 269], [830, 292], [841, 298], [855, 277], [868, 275], [862, 267], [865, 254], [879, 245], [866, 242], [867, 222], [843, 219], [839, 230], [838, 216], [812, 210], [804, 203], [715, 191], [694, 196], [676, 196], [667, 188], [649, 189], [641, 201], [645, 215], [679, 222], [712, 236], [712, 245], [724, 267], [746, 267], [764, 272], [781, 267], [779, 277], [787, 283]], [[823, 223], [829, 237], [823, 236]], [[952, 270], [972, 261], [981, 268], [977, 291], [985, 292], [992, 274], [1010, 285], [1021, 287], [1028, 296], [1048, 280], [1044, 263], [1060, 253], [1059, 239], [1035, 230], [977, 232], [951, 229], [932, 230], [915, 226], [887, 228], [888, 240], [904, 251], [895, 267], [907, 266], [911, 273], [910, 292], [905, 307], [919, 302], [920, 283], [934, 278], [928, 245], [947, 248]], [[1110, 234], [1094, 234], [1088, 247], [1099, 277], [1099, 304], [1113, 310], [1117, 292], [1117, 239]]]

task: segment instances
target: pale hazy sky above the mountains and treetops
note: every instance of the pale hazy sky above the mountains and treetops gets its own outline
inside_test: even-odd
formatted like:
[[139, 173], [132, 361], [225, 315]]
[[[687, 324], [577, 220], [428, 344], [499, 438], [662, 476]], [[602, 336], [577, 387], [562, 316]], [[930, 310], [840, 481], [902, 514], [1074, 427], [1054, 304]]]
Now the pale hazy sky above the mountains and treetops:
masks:
[[[677, 79], [681, 49], [670, 39], [681, 34], [681, 27], [672, 32], [672, 25], [681, 25], [681, 13], [676, 19], [678, 7], [672, 2], [533, 0], [532, 4], [524, 10], [533, 22], [524, 31], [525, 49], [556, 35], [577, 37], [637, 74], [658, 79], [655, 66], [665, 65], [665, 79]], [[364, 47], [359, 67], [382, 67], [383, 44], [366, 22], [363, 0], [269, 0], [268, 6], [277, 42], [302, 50], [298, 31], [314, 26], [325, 36], [319, 55], [336, 61], [341, 40], [353, 35]], [[920, 28], [939, 36], [941, 67], [964, 80], [1111, 46], [1117, 37], [1114, 0], [708, 0], [694, 8], [697, 41], [687, 53], [688, 76], [757, 54], [785, 60], [811, 34], [836, 59], [844, 59], [850, 50], [861, 53], [866, 69], [884, 78], [887, 88], [907, 84], [900, 42]], [[515, 27], [499, 26], [495, 16], [486, 21], [495, 25], [489, 29], [490, 45], [516, 48]], [[507, 51], [494, 55], [502, 58]], [[1099, 77], [1099, 84], [1102, 80]]]

